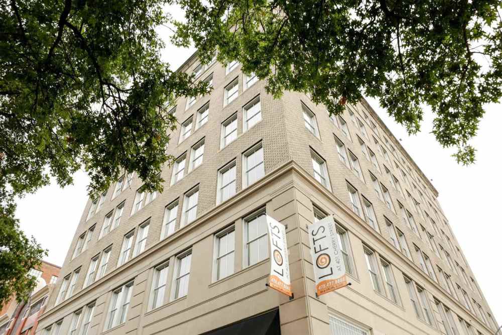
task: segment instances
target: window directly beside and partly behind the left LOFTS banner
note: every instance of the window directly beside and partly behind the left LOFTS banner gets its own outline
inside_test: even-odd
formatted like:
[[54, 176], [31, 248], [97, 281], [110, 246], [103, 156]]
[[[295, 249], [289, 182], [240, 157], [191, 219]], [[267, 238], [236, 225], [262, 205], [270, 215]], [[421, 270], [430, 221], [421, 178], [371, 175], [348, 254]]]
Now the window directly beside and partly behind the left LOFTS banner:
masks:
[[260, 210], [244, 219], [245, 266], [259, 263], [269, 257], [267, 215]]

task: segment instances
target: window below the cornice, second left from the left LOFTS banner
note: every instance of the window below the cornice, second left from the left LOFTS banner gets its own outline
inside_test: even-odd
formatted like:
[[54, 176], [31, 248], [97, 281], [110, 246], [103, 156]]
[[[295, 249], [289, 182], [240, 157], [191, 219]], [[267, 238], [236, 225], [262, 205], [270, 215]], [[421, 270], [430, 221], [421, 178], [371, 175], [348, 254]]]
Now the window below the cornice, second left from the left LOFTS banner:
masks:
[[215, 235], [213, 280], [233, 273], [235, 254], [235, 229], [231, 227]]

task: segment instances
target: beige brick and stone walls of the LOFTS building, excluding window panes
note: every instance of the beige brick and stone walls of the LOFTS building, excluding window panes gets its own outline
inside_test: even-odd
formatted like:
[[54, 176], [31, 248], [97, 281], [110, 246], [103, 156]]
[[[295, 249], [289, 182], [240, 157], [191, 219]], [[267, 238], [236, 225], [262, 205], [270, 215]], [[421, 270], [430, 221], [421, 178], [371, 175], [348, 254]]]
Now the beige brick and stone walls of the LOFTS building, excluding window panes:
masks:
[[[183, 65], [182, 70], [191, 71], [198, 64], [196, 57], [192, 56]], [[47, 311], [40, 320], [38, 333], [43, 334], [44, 328], [49, 326], [52, 326], [49, 333], [54, 333], [55, 325], [59, 322], [60, 334], [69, 333], [73, 313], [85, 309], [89, 304], [93, 304], [94, 309], [88, 334], [199, 334], [274, 309], [279, 310], [283, 335], [329, 334], [330, 331], [338, 334], [336, 326], [330, 330], [330, 320], [333, 326], [336, 322], [348, 322], [374, 335], [453, 333], [455, 330], [446, 331], [444, 324], [450, 323], [447, 320], [443, 323], [444, 314], [440, 308], [451, 315], [453, 324], [450, 326], [454, 326], [458, 334], [462, 334], [464, 330], [461, 322], [468, 323], [470, 331], [474, 331], [467, 335], [478, 335], [478, 332], [494, 333], [494, 321], [489, 319], [492, 312], [475, 281], [471, 281], [471, 278], [474, 280], [474, 275], [466, 264], [437, 202], [437, 191], [365, 101], [350, 108], [354, 117], [364, 125], [367, 138], [352, 122], [347, 109], [342, 117], [350, 133], [349, 140], [341, 131], [339, 123], [333, 123], [326, 110], [313, 104], [305, 94], [285, 92], [280, 99], [274, 99], [266, 93], [262, 81], [244, 89], [240, 67], [228, 74], [225, 72], [225, 67], [218, 63], [209, 66], [200, 75], [200, 79], [203, 80], [212, 73], [214, 89], [211, 94], [198, 97], [189, 108], [186, 108], [185, 98], [179, 98], [177, 101], [176, 117], [180, 123], [191, 116], [194, 121], [191, 135], [181, 143], [180, 129], [172, 134], [168, 152], [175, 157], [186, 153], [188, 162], [193, 158], [192, 146], [204, 139], [204, 156], [200, 166], [188, 171], [187, 163], [188, 173], [173, 185], [173, 167], [166, 167], [162, 172], [165, 180], [162, 194], [158, 194], [153, 201], [132, 215], [136, 191], [142, 185], [136, 177], [129, 188], [124, 188], [114, 198], [112, 195], [115, 185], [112, 185], [101, 208], [90, 217], [88, 212], [93, 209], [91, 201], [88, 201], [61, 270], [61, 278], [70, 276], [68, 283], [71, 284], [72, 273], [80, 269], [75, 289], [66, 299], [60, 298], [58, 303], [58, 296], [51, 296]], [[238, 97], [224, 105], [225, 86], [235, 78], [239, 80]], [[243, 107], [258, 95], [262, 120], [243, 131]], [[196, 129], [197, 110], [207, 102], [208, 121]], [[305, 127], [302, 103], [315, 115], [318, 137]], [[237, 138], [221, 148], [222, 122], [235, 113]], [[348, 167], [350, 165], [345, 165], [339, 159], [334, 136], [343, 142], [346, 150], [350, 150], [358, 158], [362, 180]], [[365, 158], [357, 137], [375, 154], [381, 171]], [[378, 148], [374, 140], [384, 149]], [[243, 187], [243, 154], [258, 143], [261, 143], [263, 148], [265, 177]], [[388, 159], [384, 157], [383, 150], [387, 151]], [[312, 151], [325, 160], [330, 181], [329, 190], [313, 177]], [[218, 204], [218, 170], [233, 160], [236, 164], [236, 194]], [[404, 197], [393, 187], [386, 169], [399, 180], [403, 194], [409, 192], [412, 198]], [[409, 182], [404, 180], [400, 169], [407, 174]], [[383, 185], [388, 189], [394, 210], [388, 208], [384, 200], [376, 194], [370, 172], [378, 178], [380, 187]], [[367, 216], [360, 217], [352, 211], [347, 183], [358, 191], [359, 201], [362, 201], [363, 196], [372, 204], [378, 230], [368, 225]], [[184, 195], [193, 187], [198, 187], [199, 190], [197, 217], [180, 228], [186, 201]], [[415, 210], [413, 199], [419, 203], [417, 208], [421, 214]], [[173, 201], [178, 201], [179, 204], [176, 230], [172, 235], [161, 239], [165, 208]], [[412, 231], [401, 216], [398, 201], [413, 215], [418, 234]], [[98, 239], [105, 216], [110, 212], [113, 216], [121, 203], [124, 203], [124, 208], [120, 224]], [[320, 298], [317, 298], [314, 292], [307, 235], [307, 225], [314, 221], [314, 207], [326, 214], [333, 214], [340, 229], [345, 232], [353, 268], [353, 274], [350, 275], [351, 286]], [[244, 261], [243, 219], [260, 208], [265, 208], [268, 215], [288, 226], [289, 261], [295, 295], [292, 300], [265, 286], [270, 271], [268, 258], [252, 266], [246, 266]], [[434, 220], [437, 231], [427, 215]], [[412, 254], [411, 259], [393, 245], [386, 218], [404, 234]], [[145, 250], [117, 267], [124, 236], [134, 230], [134, 250], [137, 247], [139, 226], [147, 220], [150, 220], [150, 225]], [[228, 277], [214, 281], [215, 234], [232, 225], [235, 232], [234, 271]], [[87, 240], [92, 227], [95, 228], [86, 248], [79, 248], [79, 238], [83, 236]], [[441, 246], [450, 255], [453, 265], [451, 269], [442, 251], [438, 251], [440, 258], [435, 250], [431, 250], [427, 233], [422, 231], [421, 227], [434, 236], [438, 247]], [[101, 278], [84, 287], [91, 259], [99, 255], [97, 259], [100, 260], [103, 251], [109, 246], [111, 253], [106, 272]], [[375, 291], [371, 282], [363, 246], [373, 251], [378, 262], [380, 293]], [[442, 287], [421, 269], [415, 246], [430, 259], [438, 280], [440, 273], [437, 267], [451, 276], [454, 292], [448, 292], [446, 287]], [[75, 248], [82, 251], [76, 253]], [[185, 297], [174, 299], [172, 292], [175, 289], [174, 278], [178, 264], [176, 257], [187, 250], [191, 250], [192, 255], [188, 292]], [[384, 280], [382, 260], [387, 262], [391, 269], [397, 302], [392, 301], [389, 286]], [[169, 267], [164, 299], [160, 306], [151, 309], [155, 268], [166, 262], [169, 262]], [[404, 276], [415, 283], [412, 284], [415, 293], [424, 290], [431, 314], [430, 324], [424, 314], [427, 313], [423, 309], [425, 301], [418, 301], [420, 317], [417, 316], [410, 299], [407, 286], [409, 284], [405, 282]], [[107, 329], [113, 291], [131, 281], [134, 281], [134, 284], [124, 322]], [[56, 291], [60, 290], [62, 283], [63, 280], [58, 281]], [[461, 290], [464, 290], [470, 299], [467, 304], [469, 309], [464, 305]], [[474, 310], [473, 299], [479, 303], [482, 311], [477, 308]], [[439, 302], [439, 305], [436, 305], [436, 302]], [[84, 322], [79, 322], [80, 334]], [[363, 333], [355, 331], [347, 334]]]

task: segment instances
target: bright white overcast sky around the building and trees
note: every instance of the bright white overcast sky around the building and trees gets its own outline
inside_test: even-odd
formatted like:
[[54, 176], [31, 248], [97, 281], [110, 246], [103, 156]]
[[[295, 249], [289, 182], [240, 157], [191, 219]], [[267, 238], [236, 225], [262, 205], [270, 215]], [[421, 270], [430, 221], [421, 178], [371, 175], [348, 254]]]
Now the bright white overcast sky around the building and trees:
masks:
[[[173, 15], [181, 17], [181, 12]], [[163, 36], [169, 30], [161, 28]], [[167, 40], [167, 39], [166, 39]], [[194, 51], [176, 49], [168, 45], [163, 60], [177, 69]], [[418, 166], [439, 191], [439, 202], [453, 232], [474, 272], [488, 304], [498, 322], [502, 322], [502, 290], [500, 289], [500, 252], [498, 243], [502, 236], [502, 222], [496, 215], [500, 205], [498, 190], [500, 178], [500, 125], [502, 104], [489, 105], [481, 121], [478, 136], [472, 141], [477, 149], [476, 163], [463, 167], [450, 156], [454, 150], [443, 149], [432, 134], [433, 115], [426, 109], [422, 131], [409, 137], [406, 130], [396, 124], [380, 104], [367, 99], [385, 124], [415, 160]], [[49, 250], [48, 262], [62, 265], [87, 201], [87, 175], [80, 171], [74, 176], [73, 185], [61, 189], [54, 182], [37, 193], [18, 202], [16, 215], [21, 228], [28, 236], [34, 236]]]

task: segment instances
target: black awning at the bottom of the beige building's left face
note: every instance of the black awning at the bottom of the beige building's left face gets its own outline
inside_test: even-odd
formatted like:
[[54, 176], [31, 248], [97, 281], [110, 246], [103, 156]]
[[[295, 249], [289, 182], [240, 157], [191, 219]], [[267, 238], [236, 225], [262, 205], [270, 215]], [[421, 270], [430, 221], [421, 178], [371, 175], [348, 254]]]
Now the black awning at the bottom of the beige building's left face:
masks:
[[281, 335], [279, 310], [211, 330], [204, 335]]

